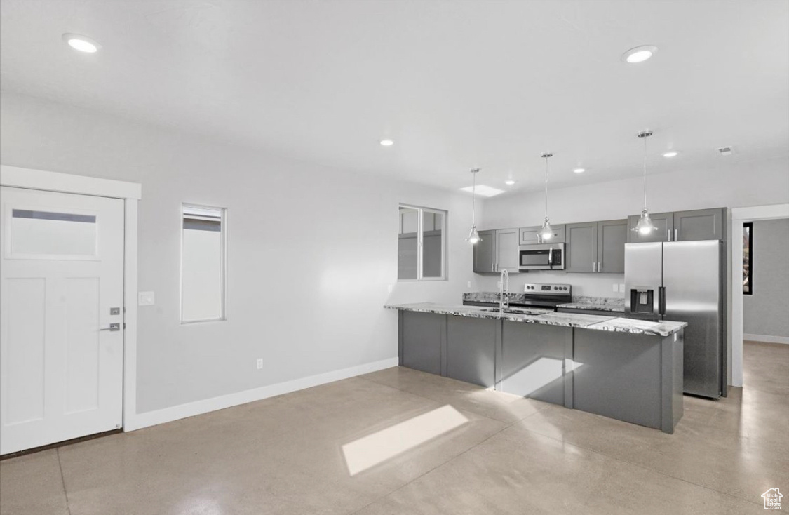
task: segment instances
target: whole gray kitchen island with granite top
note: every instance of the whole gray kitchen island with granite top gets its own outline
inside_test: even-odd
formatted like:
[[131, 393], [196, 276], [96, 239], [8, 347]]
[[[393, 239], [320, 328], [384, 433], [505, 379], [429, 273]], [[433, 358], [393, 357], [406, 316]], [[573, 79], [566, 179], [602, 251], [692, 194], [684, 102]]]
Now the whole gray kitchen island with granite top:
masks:
[[672, 433], [684, 322], [434, 303], [398, 310], [400, 364]]

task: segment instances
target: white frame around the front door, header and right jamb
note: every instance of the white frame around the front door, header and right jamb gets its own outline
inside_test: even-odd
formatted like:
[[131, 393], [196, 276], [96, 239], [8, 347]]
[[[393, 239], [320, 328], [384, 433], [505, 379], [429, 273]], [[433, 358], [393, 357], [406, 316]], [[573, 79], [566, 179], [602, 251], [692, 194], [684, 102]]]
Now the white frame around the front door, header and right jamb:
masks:
[[136, 429], [137, 207], [142, 198], [142, 184], [0, 164], [0, 186], [119, 198], [123, 201], [123, 430]]

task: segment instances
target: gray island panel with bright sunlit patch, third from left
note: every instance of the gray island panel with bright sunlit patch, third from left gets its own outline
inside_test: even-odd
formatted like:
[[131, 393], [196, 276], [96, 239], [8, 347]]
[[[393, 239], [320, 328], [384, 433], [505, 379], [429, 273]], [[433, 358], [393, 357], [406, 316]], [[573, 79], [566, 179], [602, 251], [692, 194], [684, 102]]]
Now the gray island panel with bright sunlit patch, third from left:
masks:
[[504, 321], [499, 389], [565, 404], [564, 359], [572, 329]]

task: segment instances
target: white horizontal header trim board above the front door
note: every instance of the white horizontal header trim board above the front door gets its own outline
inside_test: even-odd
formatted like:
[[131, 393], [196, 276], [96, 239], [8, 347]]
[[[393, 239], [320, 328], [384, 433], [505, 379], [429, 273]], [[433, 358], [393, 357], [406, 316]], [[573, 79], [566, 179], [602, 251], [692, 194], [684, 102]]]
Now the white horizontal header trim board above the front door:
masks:
[[30, 190], [95, 195], [96, 197], [133, 198], [136, 200], [142, 198], [142, 185], [139, 182], [115, 181], [86, 175], [62, 174], [56, 171], [9, 167], [5, 164], [0, 164], [0, 184]]

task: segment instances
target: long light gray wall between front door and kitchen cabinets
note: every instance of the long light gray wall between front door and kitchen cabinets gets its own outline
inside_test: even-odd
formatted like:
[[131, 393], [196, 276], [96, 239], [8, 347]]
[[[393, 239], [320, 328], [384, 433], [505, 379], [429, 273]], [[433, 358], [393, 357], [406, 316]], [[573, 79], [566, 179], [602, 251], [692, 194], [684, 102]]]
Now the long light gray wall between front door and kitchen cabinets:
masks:
[[[140, 413], [396, 358], [383, 304], [459, 303], [475, 280], [465, 194], [7, 92], [0, 133], [2, 164], [143, 184]], [[227, 208], [226, 321], [179, 323], [181, 202]], [[449, 212], [450, 280], [397, 282], [398, 203]]]

